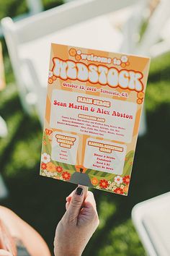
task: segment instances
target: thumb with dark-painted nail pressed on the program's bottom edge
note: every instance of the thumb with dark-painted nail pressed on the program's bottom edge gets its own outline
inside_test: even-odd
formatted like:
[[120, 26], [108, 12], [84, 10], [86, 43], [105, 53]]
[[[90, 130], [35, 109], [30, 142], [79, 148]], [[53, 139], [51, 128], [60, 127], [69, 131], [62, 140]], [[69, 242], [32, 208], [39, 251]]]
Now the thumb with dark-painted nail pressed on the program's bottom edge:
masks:
[[68, 218], [71, 218], [71, 221], [76, 220], [76, 218], [79, 216], [81, 206], [86, 197], [87, 189], [88, 187], [79, 185], [79, 187], [77, 187], [73, 192], [73, 197], [67, 210]]

